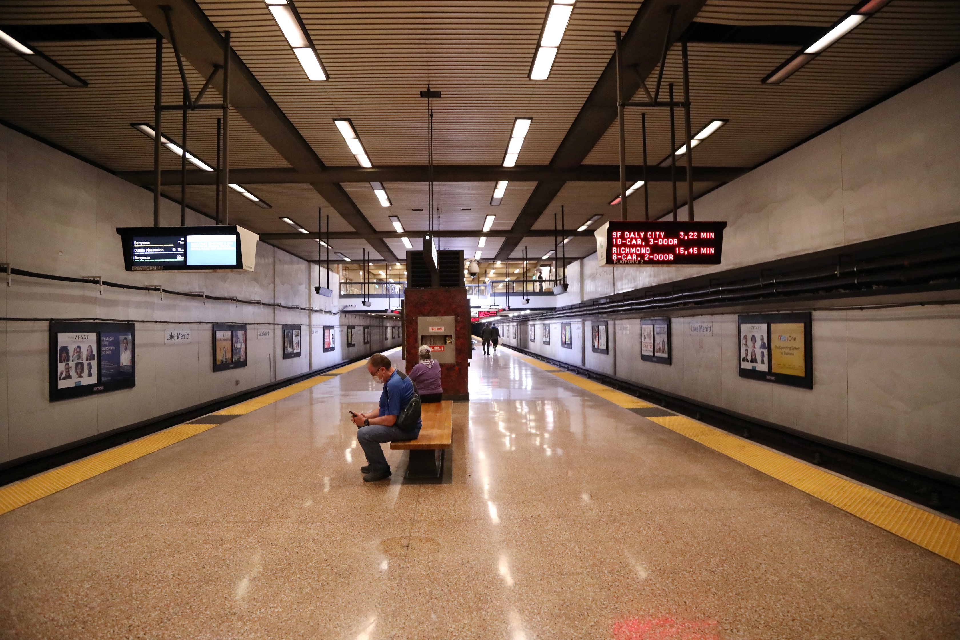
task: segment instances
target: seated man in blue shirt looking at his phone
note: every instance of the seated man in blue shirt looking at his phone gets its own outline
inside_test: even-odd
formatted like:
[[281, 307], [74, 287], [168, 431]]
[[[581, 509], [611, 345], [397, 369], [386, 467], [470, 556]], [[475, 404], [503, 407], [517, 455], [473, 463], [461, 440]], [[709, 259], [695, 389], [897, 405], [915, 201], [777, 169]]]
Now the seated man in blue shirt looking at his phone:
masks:
[[416, 390], [410, 378], [397, 371], [390, 358], [374, 353], [367, 361], [367, 371], [383, 385], [380, 406], [369, 414], [350, 414], [353, 424], [360, 427], [357, 442], [367, 456], [367, 466], [360, 467], [360, 472], [365, 474], [365, 483], [373, 483], [391, 476], [390, 463], [380, 443], [417, 439], [422, 423], [418, 417], [417, 423], [411, 426], [396, 424], [397, 416], [414, 399]]

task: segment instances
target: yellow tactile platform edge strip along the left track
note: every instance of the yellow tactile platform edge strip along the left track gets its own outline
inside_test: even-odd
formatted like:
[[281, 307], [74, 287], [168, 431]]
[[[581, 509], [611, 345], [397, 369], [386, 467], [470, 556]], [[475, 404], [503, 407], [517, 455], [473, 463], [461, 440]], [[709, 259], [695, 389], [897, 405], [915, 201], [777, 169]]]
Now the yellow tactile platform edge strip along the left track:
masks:
[[[277, 391], [265, 393], [260, 397], [241, 402], [233, 407], [228, 407], [223, 411], [218, 411], [211, 415], [244, 415], [249, 414], [254, 409], [259, 409], [272, 404], [278, 400], [289, 397], [294, 393], [299, 393], [315, 385], [319, 385], [332, 379], [331, 375], [318, 375], [308, 380], [303, 380], [296, 384], [284, 387]], [[234, 411], [242, 408], [242, 411]], [[105, 471], [115, 469], [116, 467], [132, 462], [137, 458], [142, 458], [152, 454], [171, 444], [192, 438], [197, 434], [202, 434], [207, 429], [216, 427], [216, 424], [190, 424], [183, 423], [156, 434], [144, 436], [115, 446], [107, 451], [87, 456], [76, 462], [69, 462], [56, 469], [44, 471], [30, 478], [12, 483], [8, 486], [0, 486], [0, 515], [28, 505], [40, 498], [56, 493], [68, 486], [74, 486], [98, 476]]]

